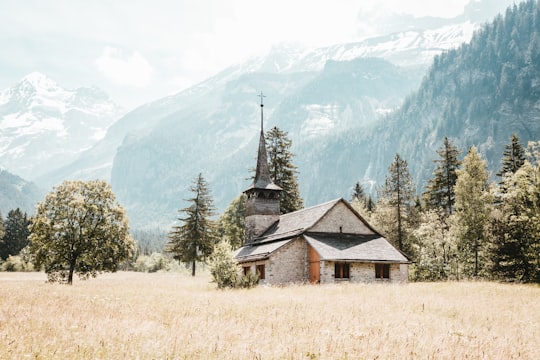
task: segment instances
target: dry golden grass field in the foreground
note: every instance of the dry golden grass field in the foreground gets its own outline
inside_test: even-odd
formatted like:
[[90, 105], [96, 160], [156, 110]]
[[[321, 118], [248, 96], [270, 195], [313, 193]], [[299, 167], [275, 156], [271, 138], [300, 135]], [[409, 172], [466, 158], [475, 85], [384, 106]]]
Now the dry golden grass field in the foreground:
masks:
[[0, 359], [540, 359], [540, 287], [0, 273]]

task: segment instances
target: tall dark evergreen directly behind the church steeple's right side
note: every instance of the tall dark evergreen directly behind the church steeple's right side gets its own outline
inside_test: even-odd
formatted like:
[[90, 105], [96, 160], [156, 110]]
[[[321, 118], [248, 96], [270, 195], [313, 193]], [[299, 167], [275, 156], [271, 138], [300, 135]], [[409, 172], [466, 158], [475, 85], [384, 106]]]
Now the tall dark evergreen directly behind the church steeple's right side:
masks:
[[300, 197], [296, 176], [298, 171], [292, 162], [294, 155], [290, 151], [292, 141], [287, 137], [286, 132], [276, 126], [266, 132], [265, 140], [270, 177], [283, 189], [280, 195], [280, 212], [286, 214], [302, 209], [304, 201]]

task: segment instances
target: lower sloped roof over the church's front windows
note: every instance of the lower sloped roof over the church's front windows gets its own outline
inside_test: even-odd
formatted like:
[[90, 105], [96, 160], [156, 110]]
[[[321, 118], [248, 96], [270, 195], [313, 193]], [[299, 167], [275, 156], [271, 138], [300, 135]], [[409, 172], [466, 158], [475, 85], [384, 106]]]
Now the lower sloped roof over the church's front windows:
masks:
[[306, 233], [304, 238], [317, 251], [321, 260], [410, 262], [378, 234]]

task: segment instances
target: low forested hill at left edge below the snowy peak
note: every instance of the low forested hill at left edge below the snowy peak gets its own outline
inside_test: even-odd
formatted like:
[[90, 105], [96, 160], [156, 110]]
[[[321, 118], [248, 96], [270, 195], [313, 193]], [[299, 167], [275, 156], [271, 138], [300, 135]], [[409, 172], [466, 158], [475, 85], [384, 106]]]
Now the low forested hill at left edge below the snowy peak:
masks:
[[0, 214], [3, 217], [17, 208], [29, 215], [33, 214], [43, 195], [44, 192], [34, 183], [0, 168]]

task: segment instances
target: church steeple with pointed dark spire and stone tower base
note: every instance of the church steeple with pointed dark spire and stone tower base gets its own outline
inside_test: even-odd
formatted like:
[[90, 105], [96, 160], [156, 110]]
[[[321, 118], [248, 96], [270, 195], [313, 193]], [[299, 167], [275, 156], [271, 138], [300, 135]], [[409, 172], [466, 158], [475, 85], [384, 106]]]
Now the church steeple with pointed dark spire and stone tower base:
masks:
[[279, 193], [282, 191], [270, 178], [264, 139], [264, 95], [261, 92], [258, 96], [261, 98], [261, 132], [257, 152], [257, 168], [253, 182], [244, 191], [247, 195], [246, 243], [262, 235], [270, 225], [279, 219]]

